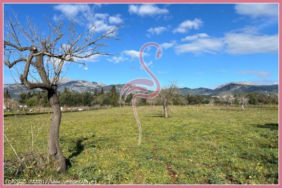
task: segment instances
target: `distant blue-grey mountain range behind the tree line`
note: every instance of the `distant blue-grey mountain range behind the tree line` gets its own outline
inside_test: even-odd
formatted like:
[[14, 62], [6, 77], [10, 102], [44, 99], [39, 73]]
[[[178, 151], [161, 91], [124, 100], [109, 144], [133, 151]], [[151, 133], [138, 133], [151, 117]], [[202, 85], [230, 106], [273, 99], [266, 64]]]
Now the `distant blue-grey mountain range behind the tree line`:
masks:
[[[103, 87], [104, 92], [107, 93], [111, 90], [113, 85], [106, 85], [102, 82], [91, 82], [85, 80], [66, 80], [61, 85], [59, 85], [58, 90], [64, 91], [65, 88], [68, 88], [71, 92], [85, 92], [89, 91], [91, 93], [94, 92], [94, 89], [97, 88], [100, 91]], [[124, 84], [115, 85], [116, 91], [122, 91]], [[23, 85], [19, 83], [13, 84], [5, 84], [4, 92], [9, 90], [9, 94], [13, 98], [19, 98], [19, 94], [22, 92], [28, 91], [25, 89]], [[218, 86], [216, 89], [208, 89], [208, 88], [180, 88], [180, 93], [183, 95], [191, 94], [191, 95], [218, 95], [222, 91], [232, 91], [233, 93], [271, 93], [273, 91], [278, 91], [278, 85], [254, 85], [249, 82], [229, 82], [224, 85]], [[31, 90], [32, 92], [33, 90]], [[36, 90], [35, 90], [36, 91]]]

